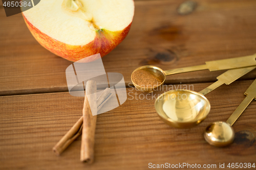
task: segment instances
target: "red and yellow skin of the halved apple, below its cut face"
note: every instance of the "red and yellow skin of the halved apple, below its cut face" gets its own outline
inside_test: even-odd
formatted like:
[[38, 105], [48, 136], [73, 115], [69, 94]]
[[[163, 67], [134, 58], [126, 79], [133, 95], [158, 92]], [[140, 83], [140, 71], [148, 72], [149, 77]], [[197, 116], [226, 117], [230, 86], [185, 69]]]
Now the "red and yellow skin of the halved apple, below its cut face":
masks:
[[[23, 17], [31, 34], [42, 46], [44, 46], [53, 54], [73, 62], [98, 53], [100, 53], [101, 57], [109, 54], [126, 37], [132, 25], [131, 22], [130, 25], [127, 26], [125, 29], [115, 32], [104, 29], [98, 30], [96, 31], [97, 33], [94, 40], [89, 42], [88, 44], [70, 45], [55, 40], [52, 37], [46, 35], [45, 33], [42, 33], [40, 30], [35, 28], [24, 15]], [[88, 60], [84, 59], [83, 62], [94, 61], [93, 58], [89, 58]]]

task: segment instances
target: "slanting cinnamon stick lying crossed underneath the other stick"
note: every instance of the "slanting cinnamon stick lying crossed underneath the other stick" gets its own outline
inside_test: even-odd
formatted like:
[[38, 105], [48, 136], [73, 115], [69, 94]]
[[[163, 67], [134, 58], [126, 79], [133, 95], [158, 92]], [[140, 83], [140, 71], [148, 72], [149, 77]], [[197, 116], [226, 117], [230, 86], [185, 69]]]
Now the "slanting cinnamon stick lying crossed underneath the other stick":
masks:
[[[106, 88], [101, 93], [101, 95], [97, 99], [98, 111], [111, 98], [112, 95], [113, 93], [110, 93], [110, 88]], [[53, 152], [56, 155], [59, 156], [80, 134], [82, 134], [82, 124], [83, 116], [81, 116], [75, 123], [75, 125], [58, 141], [57, 144], [55, 144], [55, 146], [53, 147]]]

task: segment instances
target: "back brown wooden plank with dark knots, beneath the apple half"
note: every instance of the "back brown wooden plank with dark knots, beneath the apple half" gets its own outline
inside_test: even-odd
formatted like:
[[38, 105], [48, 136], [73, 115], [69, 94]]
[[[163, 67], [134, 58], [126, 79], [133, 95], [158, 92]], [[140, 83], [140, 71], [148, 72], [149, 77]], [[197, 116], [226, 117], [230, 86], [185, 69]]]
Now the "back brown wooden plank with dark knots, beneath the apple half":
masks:
[[[255, 1], [198, 0], [194, 12], [179, 15], [182, 2], [136, 1], [129, 35], [103, 57], [106, 72], [120, 72], [128, 85], [142, 65], [166, 70], [256, 53]], [[21, 14], [6, 17], [1, 6], [0, 23], [0, 95], [68, 91], [65, 70], [72, 62], [41, 47]], [[166, 84], [215, 81], [221, 72], [173, 75]]]

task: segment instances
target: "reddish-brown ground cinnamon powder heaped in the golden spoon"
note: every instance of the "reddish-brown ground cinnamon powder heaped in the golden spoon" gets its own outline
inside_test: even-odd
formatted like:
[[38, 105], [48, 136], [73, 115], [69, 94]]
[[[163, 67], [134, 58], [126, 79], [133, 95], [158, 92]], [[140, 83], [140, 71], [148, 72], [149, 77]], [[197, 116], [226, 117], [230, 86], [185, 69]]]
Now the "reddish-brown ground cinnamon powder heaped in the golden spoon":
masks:
[[160, 79], [151, 74], [151, 72], [139, 69], [132, 74], [132, 80], [141, 87], [155, 87], [162, 83]]

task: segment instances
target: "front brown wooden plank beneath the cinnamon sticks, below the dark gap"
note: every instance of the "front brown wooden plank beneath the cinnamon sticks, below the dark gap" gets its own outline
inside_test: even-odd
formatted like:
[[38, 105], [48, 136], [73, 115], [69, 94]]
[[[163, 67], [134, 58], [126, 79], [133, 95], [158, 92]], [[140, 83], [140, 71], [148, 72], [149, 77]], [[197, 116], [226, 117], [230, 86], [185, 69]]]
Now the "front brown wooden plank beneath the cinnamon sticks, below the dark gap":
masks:
[[[79, 161], [81, 138], [60, 157], [51, 151], [82, 115], [83, 98], [68, 92], [0, 96], [1, 169], [148, 169], [148, 163], [166, 162], [217, 164], [220, 169], [219, 163], [255, 163], [255, 101], [233, 125], [236, 140], [229, 147], [212, 147], [202, 135], [209, 123], [227, 120], [251, 83], [238, 81], [207, 94], [211, 112], [191, 129], [165, 125], [155, 112], [155, 100], [136, 100], [136, 93], [137, 98], [145, 93], [127, 88], [129, 95], [123, 105], [98, 115], [92, 165]], [[200, 91], [209, 84], [191, 85]]]

